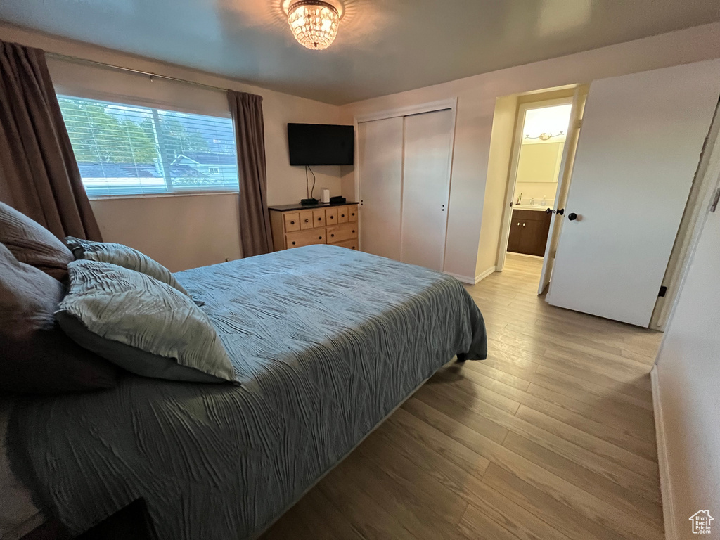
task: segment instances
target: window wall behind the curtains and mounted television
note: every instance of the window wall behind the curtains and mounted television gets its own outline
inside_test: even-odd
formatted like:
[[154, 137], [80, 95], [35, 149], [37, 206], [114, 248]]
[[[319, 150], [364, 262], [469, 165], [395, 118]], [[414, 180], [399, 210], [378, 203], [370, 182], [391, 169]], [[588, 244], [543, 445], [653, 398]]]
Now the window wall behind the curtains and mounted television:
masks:
[[[299, 202], [305, 197], [305, 169], [289, 165], [287, 122], [332, 124], [339, 120], [340, 109], [334, 105], [289, 96], [243, 84], [240, 81], [118, 53], [86, 43], [52, 37], [9, 24], [0, 23], [0, 39], [42, 48], [46, 52], [96, 60], [263, 96], [269, 204]], [[51, 60], [50, 64], [54, 77], [76, 76], [76, 68], [68, 63]], [[92, 73], [96, 73], [97, 78], [108, 76], [103, 68], [83, 66], [80, 71], [82, 76], [91, 77]], [[153, 84], [161, 85], [161, 79], [156, 79], [156, 83]], [[183, 91], [177, 84], [166, 84], [165, 87], [168, 88], [168, 92], [164, 95], [163, 92], [159, 94], [161, 94], [160, 99], [166, 99], [168, 104], [178, 99], [187, 100], [188, 96], [192, 95], [190, 89], [194, 88], [190, 87], [187, 91]], [[174, 89], [172, 94], [169, 89]], [[153, 99], [156, 98], [157, 96], [153, 96]], [[202, 105], [199, 108], [202, 109]], [[340, 194], [339, 167], [318, 167], [314, 170], [318, 176], [315, 186], [316, 196], [320, 187], [328, 187], [333, 195]], [[310, 181], [312, 182], [312, 177]], [[138, 248], [169, 269], [179, 271], [219, 263], [225, 261], [225, 258], [240, 257], [236, 202], [237, 196], [234, 195], [199, 195], [104, 199], [93, 201], [92, 206], [106, 240]]]

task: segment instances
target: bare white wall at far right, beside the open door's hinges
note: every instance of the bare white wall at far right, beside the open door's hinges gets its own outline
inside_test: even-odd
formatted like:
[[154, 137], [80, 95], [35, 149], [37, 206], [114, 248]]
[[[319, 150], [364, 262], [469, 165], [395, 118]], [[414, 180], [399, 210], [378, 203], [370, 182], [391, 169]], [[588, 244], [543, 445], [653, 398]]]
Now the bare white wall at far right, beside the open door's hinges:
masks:
[[670, 480], [662, 503], [676, 538], [692, 536], [688, 518], [698, 510], [715, 518], [713, 538], [720, 531], [719, 246], [720, 210], [708, 215], [657, 357], [654, 399]]

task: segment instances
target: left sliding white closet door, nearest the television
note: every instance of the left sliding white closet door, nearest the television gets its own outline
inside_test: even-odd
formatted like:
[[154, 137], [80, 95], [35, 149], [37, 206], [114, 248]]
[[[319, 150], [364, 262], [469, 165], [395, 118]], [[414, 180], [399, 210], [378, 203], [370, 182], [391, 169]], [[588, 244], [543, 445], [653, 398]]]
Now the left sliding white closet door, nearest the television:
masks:
[[402, 117], [358, 125], [360, 248], [400, 260]]

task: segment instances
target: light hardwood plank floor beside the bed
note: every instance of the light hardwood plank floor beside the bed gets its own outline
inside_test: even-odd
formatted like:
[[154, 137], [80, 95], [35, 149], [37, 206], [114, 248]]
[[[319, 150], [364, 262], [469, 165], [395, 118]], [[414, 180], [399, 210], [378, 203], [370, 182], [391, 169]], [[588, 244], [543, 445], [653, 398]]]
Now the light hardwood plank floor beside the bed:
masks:
[[441, 369], [263, 538], [662, 539], [660, 334], [550, 307], [540, 266], [467, 287], [488, 359]]

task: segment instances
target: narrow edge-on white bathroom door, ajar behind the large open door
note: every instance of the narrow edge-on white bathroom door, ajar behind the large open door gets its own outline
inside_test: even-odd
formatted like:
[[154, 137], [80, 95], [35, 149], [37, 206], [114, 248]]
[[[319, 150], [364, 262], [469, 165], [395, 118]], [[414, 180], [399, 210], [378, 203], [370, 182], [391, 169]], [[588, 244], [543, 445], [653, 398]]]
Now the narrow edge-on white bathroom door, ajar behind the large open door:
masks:
[[575, 94], [572, 96], [570, 122], [567, 124], [567, 137], [565, 138], [565, 144], [562, 148], [562, 161], [557, 176], [557, 192], [555, 192], [555, 201], [553, 202], [553, 208], [556, 213], [552, 215], [552, 220], [550, 220], [550, 230], [547, 235], [545, 256], [542, 261], [538, 294], [542, 294], [545, 287], [549, 285], [550, 278], [552, 277], [552, 269], [555, 266], [557, 244], [560, 239], [560, 232], [562, 231], [562, 220], [564, 220], [564, 216], [557, 214], [557, 210], [563, 210], [565, 204], [567, 204], [570, 176], [572, 175], [572, 166], [575, 163], [575, 150], [577, 150], [577, 139], [580, 136], [582, 111], [585, 109], [585, 99], [587, 96], [587, 86], [578, 86], [577, 89], [575, 89]]

